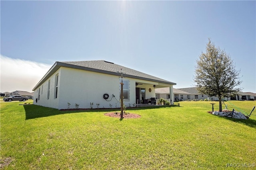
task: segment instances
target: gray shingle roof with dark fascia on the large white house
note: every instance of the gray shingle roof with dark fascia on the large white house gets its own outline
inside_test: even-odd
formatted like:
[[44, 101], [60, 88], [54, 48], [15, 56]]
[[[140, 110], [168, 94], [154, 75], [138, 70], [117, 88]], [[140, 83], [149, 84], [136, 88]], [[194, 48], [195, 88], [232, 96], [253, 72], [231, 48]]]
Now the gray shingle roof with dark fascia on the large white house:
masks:
[[52, 66], [52, 68], [50, 68], [50, 70], [46, 73], [46, 75], [40, 80], [40, 82], [38, 82], [38, 84], [33, 88], [33, 91], [36, 88], [38, 88], [44, 81], [46, 81], [60, 67], [75, 68], [79, 70], [87, 70], [87, 71], [99, 72], [99, 73], [110, 74], [115, 76], [120, 76], [121, 75], [120, 72], [123, 72], [123, 76], [128, 78], [136, 78], [139, 80], [148, 80], [148, 81], [154, 81], [154, 82], [159, 82], [164, 84], [176, 85], [176, 83], [174, 82], [170, 82], [162, 78], [151, 76], [149, 74], [145, 74], [143, 72], [139, 72], [131, 68], [120, 66], [118, 64], [114, 64], [104, 60], [64, 61], [64, 62], [56, 62]]

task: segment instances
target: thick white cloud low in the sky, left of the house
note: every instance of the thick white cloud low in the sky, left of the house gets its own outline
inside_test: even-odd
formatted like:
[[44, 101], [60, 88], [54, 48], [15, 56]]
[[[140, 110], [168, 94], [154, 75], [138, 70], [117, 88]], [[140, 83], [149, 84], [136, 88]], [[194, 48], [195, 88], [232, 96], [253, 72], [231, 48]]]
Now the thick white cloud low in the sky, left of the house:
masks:
[[51, 68], [52, 65], [36, 63], [21, 59], [12, 59], [1, 55], [1, 92], [23, 90], [32, 92], [32, 89]]

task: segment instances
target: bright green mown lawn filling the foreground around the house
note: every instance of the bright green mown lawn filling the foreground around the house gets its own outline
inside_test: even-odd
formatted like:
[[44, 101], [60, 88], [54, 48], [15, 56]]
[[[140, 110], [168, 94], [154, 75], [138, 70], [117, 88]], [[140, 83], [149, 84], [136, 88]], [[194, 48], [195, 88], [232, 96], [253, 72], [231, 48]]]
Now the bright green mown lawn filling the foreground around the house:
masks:
[[[12, 160], [4, 169], [212, 170], [256, 163], [256, 110], [240, 120], [207, 113], [212, 102], [180, 102], [129, 109], [142, 117], [121, 121], [104, 115], [115, 109], [59, 111], [22, 103], [0, 102], [1, 163]], [[225, 104], [250, 114], [256, 101]]]

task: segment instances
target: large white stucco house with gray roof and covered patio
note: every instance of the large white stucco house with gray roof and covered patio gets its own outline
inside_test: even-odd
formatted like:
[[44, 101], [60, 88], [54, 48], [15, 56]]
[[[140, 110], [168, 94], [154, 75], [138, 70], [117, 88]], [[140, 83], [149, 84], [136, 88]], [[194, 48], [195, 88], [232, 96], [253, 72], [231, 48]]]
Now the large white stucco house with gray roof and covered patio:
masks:
[[[123, 78], [121, 78], [123, 77]], [[120, 82], [124, 104], [155, 98], [155, 89], [168, 87], [173, 104], [174, 82], [107, 61], [56, 62], [33, 88], [34, 104], [56, 109], [120, 107]]]

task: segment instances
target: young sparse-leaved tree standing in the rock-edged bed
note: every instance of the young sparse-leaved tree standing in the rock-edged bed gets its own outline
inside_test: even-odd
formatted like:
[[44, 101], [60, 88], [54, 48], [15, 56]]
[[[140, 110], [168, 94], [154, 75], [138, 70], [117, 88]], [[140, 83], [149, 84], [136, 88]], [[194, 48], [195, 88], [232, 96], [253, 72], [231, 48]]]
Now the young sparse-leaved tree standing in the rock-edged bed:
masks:
[[196, 60], [194, 82], [198, 92], [208, 96], [219, 98], [219, 111], [222, 111], [222, 97], [233, 96], [242, 88], [238, 87], [240, 80], [240, 70], [236, 70], [230, 56], [214, 43], [206, 45], [206, 52]]

